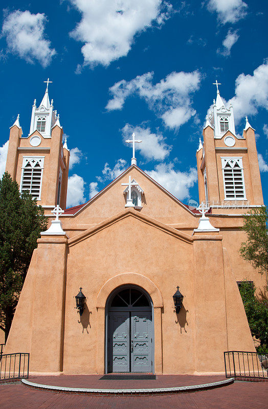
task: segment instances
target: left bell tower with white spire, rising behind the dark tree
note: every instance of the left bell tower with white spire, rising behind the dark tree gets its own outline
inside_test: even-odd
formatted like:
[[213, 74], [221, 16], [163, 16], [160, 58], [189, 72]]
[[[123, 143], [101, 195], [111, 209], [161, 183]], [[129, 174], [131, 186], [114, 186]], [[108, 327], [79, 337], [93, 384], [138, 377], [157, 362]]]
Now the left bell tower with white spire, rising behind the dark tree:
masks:
[[49, 210], [59, 205], [66, 208], [70, 151], [59, 115], [49, 100], [48, 85], [43, 99], [36, 107], [34, 100], [30, 133], [23, 137], [19, 116], [10, 127], [6, 171], [19, 185], [20, 192], [29, 191], [37, 204]]

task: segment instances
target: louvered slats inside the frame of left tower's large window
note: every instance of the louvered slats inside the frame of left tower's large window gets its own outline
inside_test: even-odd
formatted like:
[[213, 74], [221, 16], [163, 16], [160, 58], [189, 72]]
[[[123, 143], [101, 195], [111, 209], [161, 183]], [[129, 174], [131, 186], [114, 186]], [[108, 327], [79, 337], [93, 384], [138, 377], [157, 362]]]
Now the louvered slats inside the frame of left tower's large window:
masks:
[[23, 170], [23, 179], [21, 183], [21, 192], [28, 191], [33, 197], [39, 199], [41, 189], [42, 169], [37, 162], [34, 167], [28, 164]]

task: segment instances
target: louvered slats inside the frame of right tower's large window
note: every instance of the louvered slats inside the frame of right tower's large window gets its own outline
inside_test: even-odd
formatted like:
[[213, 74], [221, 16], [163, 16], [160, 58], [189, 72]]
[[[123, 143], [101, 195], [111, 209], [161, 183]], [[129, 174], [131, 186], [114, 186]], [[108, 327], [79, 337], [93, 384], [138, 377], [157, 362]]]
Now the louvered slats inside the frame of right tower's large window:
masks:
[[242, 169], [238, 164], [231, 168], [229, 164], [224, 169], [226, 199], [244, 199], [244, 182]]

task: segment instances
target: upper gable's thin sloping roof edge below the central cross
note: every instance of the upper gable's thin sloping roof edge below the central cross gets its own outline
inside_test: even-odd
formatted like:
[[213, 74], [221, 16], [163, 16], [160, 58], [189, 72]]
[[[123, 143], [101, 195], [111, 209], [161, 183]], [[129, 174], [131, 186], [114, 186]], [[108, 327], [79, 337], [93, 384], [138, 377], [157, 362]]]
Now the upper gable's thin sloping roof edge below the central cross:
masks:
[[147, 179], [149, 179], [155, 186], [157, 186], [159, 189], [161, 189], [163, 192], [165, 192], [169, 197], [171, 197], [175, 202], [177, 202], [179, 205], [181, 205], [184, 209], [186, 209], [190, 214], [200, 214], [198, 211], [191, 210], [189, 209], [189, 206], [184, 205], [183, 202], [181, 202], [180, 200], [178, 200], [175, 196], [173, 196], [168, 190], [166, 190], [165, 188], [163, 188], [163, 186], [161, 186], [159, 183], [157, 183], [157, 181], [155, 181], [151, 176], [147, 175], [147, 173], [145, 173], [142, 169], [140, 169], [138, 166], [136, 165], [131, 165], [129, 166], [129, 168], [127, 168], [124, 172], [122, 172], [116, 179], [114, 179], [113, 181], [111, 181], [111, 183], [109, 185], [107, 185], [104, 189], [102, 189], [100, 192], [98, 192], [95, 196], [93, 196], [90, 200], [88, 200], [86, 203], [83, 203], [82, 205], [78, 205], [78, 206], [74, 206], [72, 208], [66, 209], [64, 210], [64, 216], [68, 216], [68, 215], [77, 215], [82, 209], [84, 209], [85, 207], [87, 207], [88, 205], [90, 205], [91, 202], [93, 202], [94, 200], [96, 200], [101, 194], [103, 194], [107, 189], [109, 189], [111, 186], [113, 186], [115, 183], [117, 183], [117, 181], [124, 176], [130, 169], [137, 169], [142, 175], [144, 175], [145, 177], [147, 177]]

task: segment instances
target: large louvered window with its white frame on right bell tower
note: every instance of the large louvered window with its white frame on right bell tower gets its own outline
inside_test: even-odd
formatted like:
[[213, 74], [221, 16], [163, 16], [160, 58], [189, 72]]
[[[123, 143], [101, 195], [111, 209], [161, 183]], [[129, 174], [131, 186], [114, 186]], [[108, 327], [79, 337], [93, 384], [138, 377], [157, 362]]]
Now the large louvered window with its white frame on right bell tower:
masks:
[[244, 172], [241, 157], [221, 157], [225, 200], [244, 200]]

